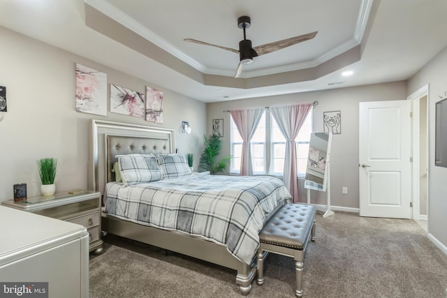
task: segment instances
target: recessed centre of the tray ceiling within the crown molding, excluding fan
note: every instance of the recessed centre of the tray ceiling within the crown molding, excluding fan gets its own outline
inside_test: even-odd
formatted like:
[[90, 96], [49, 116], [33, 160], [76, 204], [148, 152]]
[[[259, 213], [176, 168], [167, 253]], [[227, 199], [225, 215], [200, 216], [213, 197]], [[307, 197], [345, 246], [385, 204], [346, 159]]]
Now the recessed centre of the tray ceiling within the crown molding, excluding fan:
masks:
[[[307, 2], [305, 9], [304, 2]], [[298, 64], [312, 64], [312, 61], [318, 63], [323, 56], [337, 47], [342, 49], [333, 55], [358, 45], [354, 35], [356, 29], [364, 30], [362, 25], [367, 20], [366, 10], [369, 2], [372, 1], [339, 0], [326, 1], [322, 5], [321, 1], [296, 0], [87, 1], [114, 20], [135, 31], [140, 30], [141, 34], [151, 40], [155, 40], [152, 36], [159, 36], [162, 39], [159, 43], [161, 47], [172, 50], [173, 53], [175, 50], [182, 52], [199, 70], [228, 76], [235, 75], [235, 68], [239, 63], [237, 54], [186, 43], [184, 38], [238, 49], [238, 43], [243, 39], [243, 31], [237, 27], [237, 18], [242, 15], [251, 17], [253, 26], [247, 29], [247, 39], [252, 40], [253, 46], [319, 31], [312, 41], [255, 58], [256, 63], [247, 66], [249, 71], [264, 70], [263, 74], [268, 73], [265, 70], [269, 68], [288, 66], [288, 70], [299, 69], [303, 67]], [[359, 17], [360, 4], [364, 4], [365, 9]], [[340, 6], [346, 9], [337, 15], [332, 13]], [[282, 9], [278, 9], [279, 7]], [[361, 21], [356, 28], [359, 18]], [[324, 21], [315, 22], [316, 19]], [[272, 72], [275, 71], [269, 71]]]

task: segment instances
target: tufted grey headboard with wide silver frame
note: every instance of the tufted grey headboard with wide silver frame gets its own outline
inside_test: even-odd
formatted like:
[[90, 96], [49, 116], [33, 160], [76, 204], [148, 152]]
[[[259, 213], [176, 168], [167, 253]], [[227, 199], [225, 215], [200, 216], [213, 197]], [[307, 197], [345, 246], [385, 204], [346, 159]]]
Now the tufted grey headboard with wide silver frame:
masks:
[[103, 193], [115, 181], [113, 163], [118, 154], [161, 154], [175, 151], [174, 130], [91, 119], [89, 189]]

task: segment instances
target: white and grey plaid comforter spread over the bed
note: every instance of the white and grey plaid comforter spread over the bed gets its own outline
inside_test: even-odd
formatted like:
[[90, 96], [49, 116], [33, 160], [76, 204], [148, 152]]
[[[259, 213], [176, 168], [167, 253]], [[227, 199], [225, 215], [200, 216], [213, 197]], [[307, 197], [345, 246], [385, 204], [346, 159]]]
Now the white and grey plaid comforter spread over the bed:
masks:
[[109, 183], [105, 213], [214, 241], [249, 264], [263, 220], [291, 195], [281, 180], [205, 173], [133, 186]]

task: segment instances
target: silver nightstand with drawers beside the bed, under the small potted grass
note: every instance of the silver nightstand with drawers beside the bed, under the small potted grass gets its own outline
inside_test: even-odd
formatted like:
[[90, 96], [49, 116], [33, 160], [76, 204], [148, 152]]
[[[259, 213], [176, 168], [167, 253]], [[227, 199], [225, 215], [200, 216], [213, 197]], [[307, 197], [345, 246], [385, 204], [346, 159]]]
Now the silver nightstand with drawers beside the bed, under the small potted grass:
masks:
[[82, 191], [82, 193], [71, 194], [67, 191], [54, 193], [54, 195], [31, 197], [20, 202], [7, 200], [1, 202], [1, 204], [6, 207], [84, 225], [89, 232], [89, 251], [94, 251], [94, 253], [103, 251], [101, 193]]

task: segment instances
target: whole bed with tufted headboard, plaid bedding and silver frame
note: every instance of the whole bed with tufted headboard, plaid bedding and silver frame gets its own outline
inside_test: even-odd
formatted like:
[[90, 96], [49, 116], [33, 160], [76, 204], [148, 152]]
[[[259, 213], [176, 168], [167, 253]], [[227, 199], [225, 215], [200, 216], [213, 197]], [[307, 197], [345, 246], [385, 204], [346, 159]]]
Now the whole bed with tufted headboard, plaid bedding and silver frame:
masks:
[[[272, 177], [191, 173], [177, 165], [180, 170], [166, 170], [169, 158], [179, 157], [174, 151], [173, 130], [91, 121], [89, 181], [104, 195], [102, 230], [234, 269], [240, 292], [248, 295], [258, 232], [290, 193]], [[145, 169], [135, 174], [141, 158]], [[117, 163], [120, 182], [112, 171]]]

